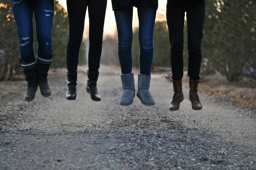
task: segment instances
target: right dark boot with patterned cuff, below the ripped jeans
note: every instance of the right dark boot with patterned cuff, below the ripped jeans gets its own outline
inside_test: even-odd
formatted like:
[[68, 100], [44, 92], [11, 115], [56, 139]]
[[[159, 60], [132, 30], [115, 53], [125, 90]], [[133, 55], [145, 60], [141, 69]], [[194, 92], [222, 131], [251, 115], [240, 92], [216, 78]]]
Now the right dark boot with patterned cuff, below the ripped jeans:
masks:
[[40, 92], [43, 97], [49, 97], [52, 95], [52, 90], [50, 85], [48, 84], [48, 71], [50, 69], [52, 63], [51, 55], [50, 59], [44, 59], [37, 56], [37, 78], [38, 78], [38, 85], [40, 87]]

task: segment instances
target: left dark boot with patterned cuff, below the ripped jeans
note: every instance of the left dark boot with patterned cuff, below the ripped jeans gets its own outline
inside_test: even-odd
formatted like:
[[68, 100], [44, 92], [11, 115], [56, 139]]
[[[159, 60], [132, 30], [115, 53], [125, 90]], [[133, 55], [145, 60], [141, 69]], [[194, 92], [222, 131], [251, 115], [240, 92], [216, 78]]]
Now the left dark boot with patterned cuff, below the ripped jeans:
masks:
[[21, 67], [24, 71], [25, 80], [27, 82], [27, 89], [24, 94], [25, 101], [32, 101], [35, 99], [35, 94], [38, 87], [37, 82], [37, 62], [24, 63], [20, 60]]

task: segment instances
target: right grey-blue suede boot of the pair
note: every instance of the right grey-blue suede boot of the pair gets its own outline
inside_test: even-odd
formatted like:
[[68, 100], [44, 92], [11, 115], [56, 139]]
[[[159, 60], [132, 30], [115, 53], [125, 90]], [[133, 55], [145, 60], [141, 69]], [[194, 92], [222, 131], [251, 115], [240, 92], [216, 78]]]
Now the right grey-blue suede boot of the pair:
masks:
[[151, 75], [143, 75], [138, 73], [138, 91], [137, 97], [145, 106], [155, 105], [155, 101], [149, 92]]

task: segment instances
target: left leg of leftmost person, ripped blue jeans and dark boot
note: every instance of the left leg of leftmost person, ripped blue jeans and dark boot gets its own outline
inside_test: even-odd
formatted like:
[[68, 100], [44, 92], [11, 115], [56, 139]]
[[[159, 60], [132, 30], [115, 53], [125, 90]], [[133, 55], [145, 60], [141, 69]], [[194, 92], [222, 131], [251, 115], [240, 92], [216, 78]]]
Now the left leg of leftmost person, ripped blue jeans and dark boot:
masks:
[[27, 89], [24, 94], [25, 101], [35, 99], [38, 87], [37, 68], [33, 49], [33, 4], [28, 0], [12, 0], [12, 10], [19, 34], [21, 60]]

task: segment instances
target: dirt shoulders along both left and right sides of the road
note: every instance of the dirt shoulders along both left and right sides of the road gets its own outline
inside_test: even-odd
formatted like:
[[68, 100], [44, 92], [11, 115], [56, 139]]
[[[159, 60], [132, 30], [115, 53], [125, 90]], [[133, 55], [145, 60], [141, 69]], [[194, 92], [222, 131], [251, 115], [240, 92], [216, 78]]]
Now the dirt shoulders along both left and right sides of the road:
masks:
[[[111, 68], [119, 70], [117, 66]], [[133, 69], [138, 72], [138, 69]], [[164, 71], [153, 72], [152, 74], [165, 74], [169, 72]], [[79, 74], [86, 74], [85, 71], [80, 70]], [[51, 69], [49, 71], [49, 82], [66, 81], [66, 69]], [[183, 84], [188, 86], [188, 76], [184, 74]], [[24, 75], [14, 75], [12, 81], [0, 82], [0, 101], [8, 102], [12, 98], [23, 95], [26, 90], [26, 82]], [[40, 90], [38, 90], [39, 92]], [[231, 99], [231, 104], [249, 107], [256, 113], [256, 82], [229, 82], [225, 76], [212, 75], [206, 76], [206, 82], [199, 85], [199, 92], [208, 95], [215, 95]]]

